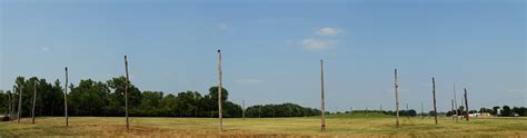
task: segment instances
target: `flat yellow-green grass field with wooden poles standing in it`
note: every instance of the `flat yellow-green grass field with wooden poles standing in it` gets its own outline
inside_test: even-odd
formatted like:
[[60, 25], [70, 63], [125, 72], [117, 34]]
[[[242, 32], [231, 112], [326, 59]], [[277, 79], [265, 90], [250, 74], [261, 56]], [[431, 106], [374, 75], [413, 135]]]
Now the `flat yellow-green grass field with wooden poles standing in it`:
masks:
[[[131, 118], [130, 130], [122, 117], [70, 117], [64, 127], [62, 117], [39, 117], [36, 125], [30, 119], [22, 124], [0, 122], [0, 137], [12, 136], [169, 136], [218, 137], [218, 121], [213, 118]], [[527, 118], [474, 118], [470, 121], [451, 118], [401, 117], [401, 128], [396, 128], [394, 117], [384, 115], [329, 116], [327, 131], [319, 132], [320, 119], [307, 118], [228, 118], [223, 120], [228, 137], [527, 137]]]

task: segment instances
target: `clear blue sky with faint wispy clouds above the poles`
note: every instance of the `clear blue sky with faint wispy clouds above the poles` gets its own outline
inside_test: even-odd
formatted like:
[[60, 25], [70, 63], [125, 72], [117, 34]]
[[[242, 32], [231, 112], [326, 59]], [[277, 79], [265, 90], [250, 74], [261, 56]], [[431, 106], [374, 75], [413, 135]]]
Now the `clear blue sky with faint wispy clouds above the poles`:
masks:
[[[1, 0], [0, 89], [17, 76], [107, 81], [202, 95], [218, 83], [222, 52], [229, 100], [326, 109], [395, 109], [399, 101], [450, 109], [527, 106], [524, 0]], [[456, 85], [456, 89], [454, 89]]]

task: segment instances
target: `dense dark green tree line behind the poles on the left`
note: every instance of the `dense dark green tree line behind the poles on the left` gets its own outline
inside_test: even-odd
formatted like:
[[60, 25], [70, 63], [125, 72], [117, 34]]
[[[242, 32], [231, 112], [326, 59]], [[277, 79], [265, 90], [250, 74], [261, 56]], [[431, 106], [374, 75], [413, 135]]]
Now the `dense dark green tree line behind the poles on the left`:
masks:
[[[110, 80], [80, 80], [78, 85], [68, 85], [69, 116], [118, 116], [125, 115], [125, 87], [127, 79], [116, 77]], [[63, 116], [64, 93], [61, 82], [47, 82], [46, 79], [17, 77], [12, 90], [0, 91], [0, 112], [8, 114], [11, 101], [11, 112], [16, 112], [19, 103], [19, 91], [22, 91], [22, 117], [31, 115], [33, 90], [37, 90], [36, 116]], [[34, 87], [36, 86], [36, 87]], [[33, 88], [34, 87], [34, 88]], [[135, 117], [217, 117], [218, 86], [209, 88], [209, 93], [202, 96], [198, 91], [187, 90], [177, 95], [162, 91], [141, 91], [129, 85], [129, 114]], [[221, 89], [223, 117], [242, 117], [241, 106], [228, 101], [228, 90]], [[247, 108], [246, 117], [304, 117], [318, 116], [317, 109], [301, 107], [295, 103], [256, 105]]]

